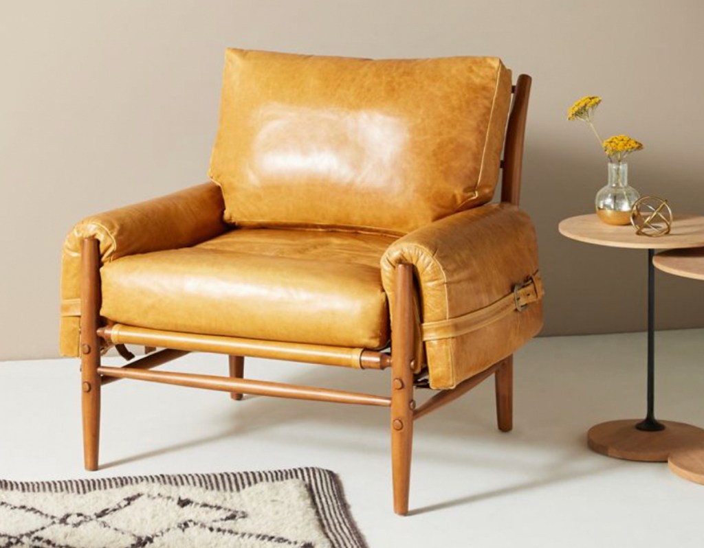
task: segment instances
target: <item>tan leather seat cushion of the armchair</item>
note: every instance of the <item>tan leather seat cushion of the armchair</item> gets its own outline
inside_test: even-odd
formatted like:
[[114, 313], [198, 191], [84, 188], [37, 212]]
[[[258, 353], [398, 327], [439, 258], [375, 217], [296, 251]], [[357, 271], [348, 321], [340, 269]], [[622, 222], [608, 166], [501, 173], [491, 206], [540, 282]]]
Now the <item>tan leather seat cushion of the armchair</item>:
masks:
[[101, 315], [151, 329], [381, 348], [389, 236], [237, 229], [101, 269]]

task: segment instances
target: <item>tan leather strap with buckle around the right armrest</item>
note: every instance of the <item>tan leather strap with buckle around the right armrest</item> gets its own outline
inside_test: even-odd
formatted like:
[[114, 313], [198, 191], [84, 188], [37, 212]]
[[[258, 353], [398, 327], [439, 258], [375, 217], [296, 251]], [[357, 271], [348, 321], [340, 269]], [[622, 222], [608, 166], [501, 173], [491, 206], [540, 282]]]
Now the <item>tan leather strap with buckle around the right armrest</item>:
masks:
[[491, 305], [455, 318], [426, 321], [421, 325], [422, 338], [439, 340], [477, 331], [512, 312], [522, 312], [528, 305], [541, 300], [543, 295], [543, 280], [540, 271], [536, 271], [522, 283], [513, 286], [511, 293], [492, 302]]

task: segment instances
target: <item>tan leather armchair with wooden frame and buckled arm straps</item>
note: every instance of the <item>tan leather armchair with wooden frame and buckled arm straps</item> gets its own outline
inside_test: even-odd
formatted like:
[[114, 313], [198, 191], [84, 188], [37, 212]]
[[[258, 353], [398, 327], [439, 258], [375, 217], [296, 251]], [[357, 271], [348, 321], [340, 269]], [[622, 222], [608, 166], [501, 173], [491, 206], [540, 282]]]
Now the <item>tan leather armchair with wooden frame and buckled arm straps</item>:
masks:
[[[212, 182], [66, 239], [61, 352], [81, 359], [86, 469], [101, 388], [122, 378], [389, 407], [398, 514], [415, 420], [494, 375], [509, 431], [512, 355], [542, 325], [517, 207], [529, 87], [497, 58], [227, 50]], [[130, 363], [101, 365], [111, 346]], [[152, 371], [197, 351], [228, 355], [230, 375]], [[390, 394], [244, 378], [245, 356], [391, 369]], [[417, 387], [436, 392], [416, 405]]]

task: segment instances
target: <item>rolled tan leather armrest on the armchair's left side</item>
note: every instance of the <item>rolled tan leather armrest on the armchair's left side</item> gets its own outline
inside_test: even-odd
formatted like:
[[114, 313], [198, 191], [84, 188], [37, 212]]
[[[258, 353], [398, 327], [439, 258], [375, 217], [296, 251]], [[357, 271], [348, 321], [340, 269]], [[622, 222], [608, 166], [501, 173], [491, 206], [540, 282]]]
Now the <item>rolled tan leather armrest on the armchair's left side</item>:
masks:
[[83, 219], [63, 244], [61, 260], [61, 355], [78, 355], [80, 250], [84, 238], [100, 242], [101, 264], [166, 249], [194, 246], [222, 234], [225, 205], [213, 183], [199, 184]]

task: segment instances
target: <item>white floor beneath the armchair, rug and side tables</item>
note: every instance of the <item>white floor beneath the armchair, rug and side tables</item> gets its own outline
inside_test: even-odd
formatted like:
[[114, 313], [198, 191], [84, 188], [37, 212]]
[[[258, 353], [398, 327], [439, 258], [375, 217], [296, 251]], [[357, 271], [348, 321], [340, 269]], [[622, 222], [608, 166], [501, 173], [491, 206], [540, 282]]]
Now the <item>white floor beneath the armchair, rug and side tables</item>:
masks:
[[[73, 359], [0, 364], [0, 477], [320, 466], [341, 476], [371, 548], [700, 548], [704, 486], [666, 464], [609, 459], [586, 447], [589, 426], [643, 414], [645, 344], [642, 333], [534, 340], [516, 359], [512, 433], [494, 426], [491, 381], [419, 421], [406, 518], [391, 511], [381, 408], [233, 402], [222, 393], [120, 381], [103, 392], [103, 468], [84, 473]], [[704, 330], [658, 333], [660, 418], [704, 425], [703, 352]], [[165, 369], [225, 374], [227, 359], [194, 354]], [[377, 393], [389, 378], [257, 359], [246, 372]]]

